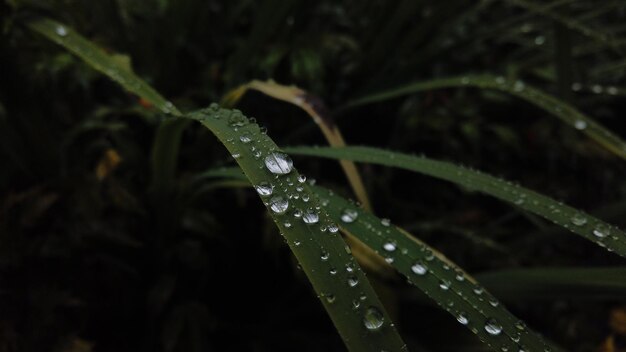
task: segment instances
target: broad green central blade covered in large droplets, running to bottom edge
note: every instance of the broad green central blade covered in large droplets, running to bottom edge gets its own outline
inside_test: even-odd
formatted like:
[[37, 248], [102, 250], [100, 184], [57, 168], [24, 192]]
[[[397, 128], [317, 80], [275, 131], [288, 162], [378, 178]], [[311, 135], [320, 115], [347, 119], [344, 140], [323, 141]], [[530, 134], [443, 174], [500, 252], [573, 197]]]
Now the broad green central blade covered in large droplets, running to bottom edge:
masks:
[[[265, 183], [273, 189], [270, 196], [261, 198], [346, 346], [351, 351], [406, 350], [345, 242], [328, 229], [333, 227], [332, 220], [319, 207], [309, 186], [298, 181], [295, 169], [279, 175], [266, 167], [265, 158], [272, 161], [286, 157], [275, 154], [280, 153], [276, 144], [237, 110], [213, 105], [188, 117], [201, 122], [224, 143], [253, 185]], [[280, 201], [287, 201], [288, 209], [273, 211]]]

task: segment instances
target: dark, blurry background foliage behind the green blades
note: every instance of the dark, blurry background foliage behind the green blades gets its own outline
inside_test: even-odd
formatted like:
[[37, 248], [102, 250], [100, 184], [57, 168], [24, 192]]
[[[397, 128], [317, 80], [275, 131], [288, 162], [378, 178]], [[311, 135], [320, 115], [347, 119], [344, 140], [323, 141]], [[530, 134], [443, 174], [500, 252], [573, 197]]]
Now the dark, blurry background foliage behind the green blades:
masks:
[[[29, 32], [24, 19], [67, 23], [185, 111], [251, 79], [298, 85], [332, 111], [412, 81], [492, 73], [523, 79], [626, 136], [626, 3], [534, 4], [606, 37], [507, 1], [4, 0], [0, 351], [344, 349], [256, 195], [192, 187], [197, 173], [232, 164], [219, 142], [187, 128], [172, 192], [155, 197], [150, 153], [162, 116]], [[325, 143], [292, 106], [248, 93], [239, 108], [280, 145]], [[623, 160], [511, 96], [443, 89], [335, 118], [349, 144], [469, 165], [626, 225]], [[296, 162], [350, 195], [335, 162]], [[378, 215], [471, 273], [623, 264], [493, 199], [360, 169]], [[485, 348], [415, 290], [387, 285], [402, 293], [398, 327], [412, 350]], [[623, 300], [505, 300], [568, 350], [622, 343], [609, 322]]]

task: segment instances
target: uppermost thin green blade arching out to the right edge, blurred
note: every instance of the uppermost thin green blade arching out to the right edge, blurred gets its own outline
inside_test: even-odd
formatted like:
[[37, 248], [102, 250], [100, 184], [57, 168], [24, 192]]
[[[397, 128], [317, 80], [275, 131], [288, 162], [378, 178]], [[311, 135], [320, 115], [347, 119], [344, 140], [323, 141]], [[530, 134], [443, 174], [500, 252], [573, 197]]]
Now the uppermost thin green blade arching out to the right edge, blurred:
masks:
[[619, 136], [613, 134], [606, 127], [595, 122], [572, 105], [544, 93], [539, 89], [529, 87], [521, 81], [509, 81], [504, 77], [491, 75], [463, 76], [411, 83], [399, 88], [358, 98], [348, 102], [340, 110], [393, 99], [424, 90], [450, 87], [477, 87], [512, 94], [556, 116], [566, 124], [580, 130], [609, 151], [626, 159], [626, 142]]

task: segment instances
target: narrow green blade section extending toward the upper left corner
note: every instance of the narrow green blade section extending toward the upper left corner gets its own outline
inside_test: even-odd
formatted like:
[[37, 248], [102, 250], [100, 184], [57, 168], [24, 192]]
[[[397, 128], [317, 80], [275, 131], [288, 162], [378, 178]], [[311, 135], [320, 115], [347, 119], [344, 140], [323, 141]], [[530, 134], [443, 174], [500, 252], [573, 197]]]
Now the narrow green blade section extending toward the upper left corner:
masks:
[[119, 83], [129, 92], [147, 100], [161, 112], [174, 116], [181, 115], [180, 111], [171, 102], [163, 98], [128, 67], [122, 65], [113, 56], [85, 39], [72, 28], [48, 18], [33, 19], [26, 22], [26, 25], [35, 32], [42, 34], [76, 54], [91, 67], [109, 76], [109, 78]]

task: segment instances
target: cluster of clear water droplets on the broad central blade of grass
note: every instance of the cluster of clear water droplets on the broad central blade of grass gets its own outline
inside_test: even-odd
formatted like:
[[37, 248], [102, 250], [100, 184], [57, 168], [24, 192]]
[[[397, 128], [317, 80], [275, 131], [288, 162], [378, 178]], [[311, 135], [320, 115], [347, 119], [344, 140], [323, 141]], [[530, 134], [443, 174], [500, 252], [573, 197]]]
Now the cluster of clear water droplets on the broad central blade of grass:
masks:
[[[249, 126], [251, 121], [248, 120], [241, 112], [237, 110], [227, 111], [220, 110], [216, 105], [212, 105], [208, 109], [213, 118], [224, 119], [233, 131], [238, 132], [235, 138], [227, 139], [229, 148], [235, 150], [232, 156], [235, 159], [246, 158], [251, 155], [257, 160], [261, 169], [265, 169], [273, 176], [269, 182], [260, 182], [254, 185], [256, 192], [270, 211], [279, 216], [280, 223], [285, 228], [291, 228], [298, 222], [305, 226], [316, 226], [322, 233], [337, 236], [339, 226], [330, 221], [321, 211], [322, 206], [328, 204], [328, 200], [311, 199], [306, 191], [307, 178], [304, 175], [296, 175], [291, 158], [275, 149], [273, 145], [265, 142], [265, 138], [259, 136], [255, 132], [255, 126]], [[259, 129], [260, 132], [263, 130]], [[267, 143], [267, 144], [264, 144]], [[249, 151], [248, 152], [246, 152]], [[313, 184], [315, 180], [309, 180]], [[358, 210], [346, 209], [341, 221], [344, 223], [354, 222], [358, 217]], [[389, 225], [387, 220], [387, 226]], [[303, 240], [294, 240], [293, 245], [301, 246]], [[350, 248], [346, 245], [346, 253], [350, 254]], [[353, 257], [349, 257], [348, 264], [343, 268], [338, 268], [333, 260], [334, 256], [331, 251], [322, 249], [319, 254], [319, 260], [327, 267], [326, 272], [337, 280], [342, 280], [350, 290], [354, 290], [356, 298], [349, 300], [350, 308], [359, 312], [362, 319], [362, 326], [370, 332], [377, 332], [384, 328], [385, 316], [382, 310], [372, 305], [368, 300], [368, 296], [360, 292], [361, 286], [359, 276], [362, 273], [358, 265], [354, 262]], [[322, 292], [320, 298], [327, 304], [343, 304], [341, 296], [336, 296], [333, 292]]]

